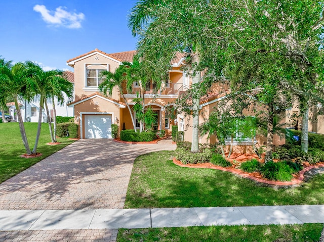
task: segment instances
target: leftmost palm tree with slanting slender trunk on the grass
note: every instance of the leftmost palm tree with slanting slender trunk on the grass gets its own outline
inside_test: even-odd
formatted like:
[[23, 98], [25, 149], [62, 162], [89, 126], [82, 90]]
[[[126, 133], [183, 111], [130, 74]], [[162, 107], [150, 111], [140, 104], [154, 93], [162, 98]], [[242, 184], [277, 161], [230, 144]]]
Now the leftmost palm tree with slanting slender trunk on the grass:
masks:
[[21, 117], [18, 99], [24, 98], [27, 92], [29, 78], [27, 76], [26, 66], [18, 62], [13, 66], [4, 65], [0, 67], [0, 102], [4, 103], [8, 98], [14, 99], [21, 138], [28, 155], [31, 155], [25, 126]]

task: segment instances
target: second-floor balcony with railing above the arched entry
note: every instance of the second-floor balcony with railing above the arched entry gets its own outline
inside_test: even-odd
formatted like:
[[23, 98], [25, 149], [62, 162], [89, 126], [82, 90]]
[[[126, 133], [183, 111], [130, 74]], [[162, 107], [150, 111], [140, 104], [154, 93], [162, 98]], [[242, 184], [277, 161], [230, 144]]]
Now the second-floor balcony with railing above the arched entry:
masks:
[[[179, 95], [181, 91], [184, 91], [182, 83], [168, 83], [162, 84], [159, 89], [156, 88], [155, 84], [147, 83], [145, 88], [145, 94], [157, 94], [157, 95]], [[123, 83], [124, 94], [136, 94], [140, 92], [140, 87], [133, 84], [131, 91], [127, 90], [126, 83]]]

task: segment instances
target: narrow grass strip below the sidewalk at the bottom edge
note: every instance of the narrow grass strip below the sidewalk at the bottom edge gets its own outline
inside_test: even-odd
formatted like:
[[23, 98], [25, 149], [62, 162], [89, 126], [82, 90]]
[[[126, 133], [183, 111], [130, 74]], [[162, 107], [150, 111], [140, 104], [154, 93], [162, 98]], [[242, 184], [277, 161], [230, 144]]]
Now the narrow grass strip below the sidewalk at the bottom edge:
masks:
[[244, 225], [182, 228], [119, 229], [117, 242], [126, 241], [318, 241], [322, 224]]

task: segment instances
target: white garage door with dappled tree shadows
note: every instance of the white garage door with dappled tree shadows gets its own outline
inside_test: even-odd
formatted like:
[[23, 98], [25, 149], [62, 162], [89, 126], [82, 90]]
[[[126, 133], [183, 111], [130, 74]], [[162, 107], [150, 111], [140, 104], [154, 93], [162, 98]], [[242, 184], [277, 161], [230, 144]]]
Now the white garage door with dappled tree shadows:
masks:
[[111, 115], [85, 115], [86, 138], [111, 138]]

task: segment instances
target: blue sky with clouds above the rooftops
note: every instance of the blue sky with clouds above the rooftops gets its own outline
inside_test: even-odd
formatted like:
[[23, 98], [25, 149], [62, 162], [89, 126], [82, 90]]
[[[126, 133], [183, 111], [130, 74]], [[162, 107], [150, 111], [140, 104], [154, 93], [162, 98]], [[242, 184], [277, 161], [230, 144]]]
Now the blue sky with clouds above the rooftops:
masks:
[[127, 27], [136, 0], [3, 0], [0, 55], [34, 61], [45, 70], [69, 69], [66, 61], [96, 48], [106, 53], [136, 49]]

